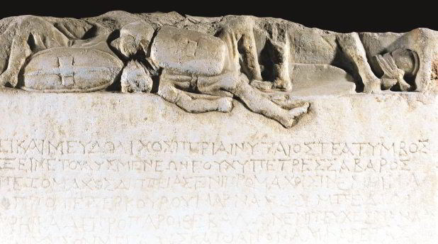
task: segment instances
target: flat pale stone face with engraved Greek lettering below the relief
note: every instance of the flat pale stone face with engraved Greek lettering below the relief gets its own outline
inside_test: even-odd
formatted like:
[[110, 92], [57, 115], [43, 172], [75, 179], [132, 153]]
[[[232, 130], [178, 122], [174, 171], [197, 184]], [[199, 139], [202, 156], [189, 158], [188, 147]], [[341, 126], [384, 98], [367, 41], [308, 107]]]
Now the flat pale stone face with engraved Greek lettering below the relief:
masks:
[[233, 101], [0, 92], [3, 243], [437, 243], [436, 96]]

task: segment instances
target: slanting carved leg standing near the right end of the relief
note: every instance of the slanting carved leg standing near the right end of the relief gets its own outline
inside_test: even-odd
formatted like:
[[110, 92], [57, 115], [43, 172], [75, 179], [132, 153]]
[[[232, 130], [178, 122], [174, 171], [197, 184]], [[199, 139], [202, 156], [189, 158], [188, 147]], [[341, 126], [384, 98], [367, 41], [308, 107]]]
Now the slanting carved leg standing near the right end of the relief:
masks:
[[364, 92], [381, 92], [381, 80], [371, 70], [366, 60], [366, 52], [357, 33], [339, 34], [338, 43], [342, 51], [356, 66], [357, 72], [364, 82]]

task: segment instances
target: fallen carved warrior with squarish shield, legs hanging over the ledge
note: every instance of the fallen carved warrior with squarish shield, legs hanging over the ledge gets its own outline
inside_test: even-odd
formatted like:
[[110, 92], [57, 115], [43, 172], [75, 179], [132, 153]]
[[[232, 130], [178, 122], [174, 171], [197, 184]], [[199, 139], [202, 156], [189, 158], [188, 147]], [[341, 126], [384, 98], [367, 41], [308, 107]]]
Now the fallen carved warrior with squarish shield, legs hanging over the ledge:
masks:
[[111, 43], [127, 59], [142, 52], [150, 67], [141, 60], [129, 62], [121, 77], [122, 91], [151, 91], [151, 77], [160, 70], [157, 94], [191, 113], [228, 112], [236, 96], [251, 111], [289, 128], [308, 111], [307, 102], [272, 99], [250, 86], [245, 74], [230, 68], [234, 64], [228, 47], [219, 38], [170, 26], [160, 28], [152, 41], [153, 33], [145, 23], [130, 23]]

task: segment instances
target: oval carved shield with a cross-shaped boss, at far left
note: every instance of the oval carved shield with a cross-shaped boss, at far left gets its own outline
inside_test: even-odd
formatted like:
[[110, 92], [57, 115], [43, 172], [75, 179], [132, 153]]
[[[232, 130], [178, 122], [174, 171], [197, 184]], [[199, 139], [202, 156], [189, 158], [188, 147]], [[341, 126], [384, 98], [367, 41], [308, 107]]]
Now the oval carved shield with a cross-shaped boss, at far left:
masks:
[[99, 91], [123, 69], [117, 57], [96, 49], [52, 48], [30, 57], [21, 89], [46, 92]]

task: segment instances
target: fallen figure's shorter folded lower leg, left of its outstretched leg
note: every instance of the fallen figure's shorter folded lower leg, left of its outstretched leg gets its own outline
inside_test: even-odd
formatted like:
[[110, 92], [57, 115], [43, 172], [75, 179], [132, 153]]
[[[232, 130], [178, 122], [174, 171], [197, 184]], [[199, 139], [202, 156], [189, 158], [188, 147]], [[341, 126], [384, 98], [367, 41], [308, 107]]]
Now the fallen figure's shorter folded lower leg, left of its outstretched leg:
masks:
[[188, 92], [176, 89], [174, 82], [171, 79], [161, 77], [157, 94], [184, 111], [205, 113], [209, 111], [229, 112], [232, 109], [232, 98], [230, 97], [189, 95]]

